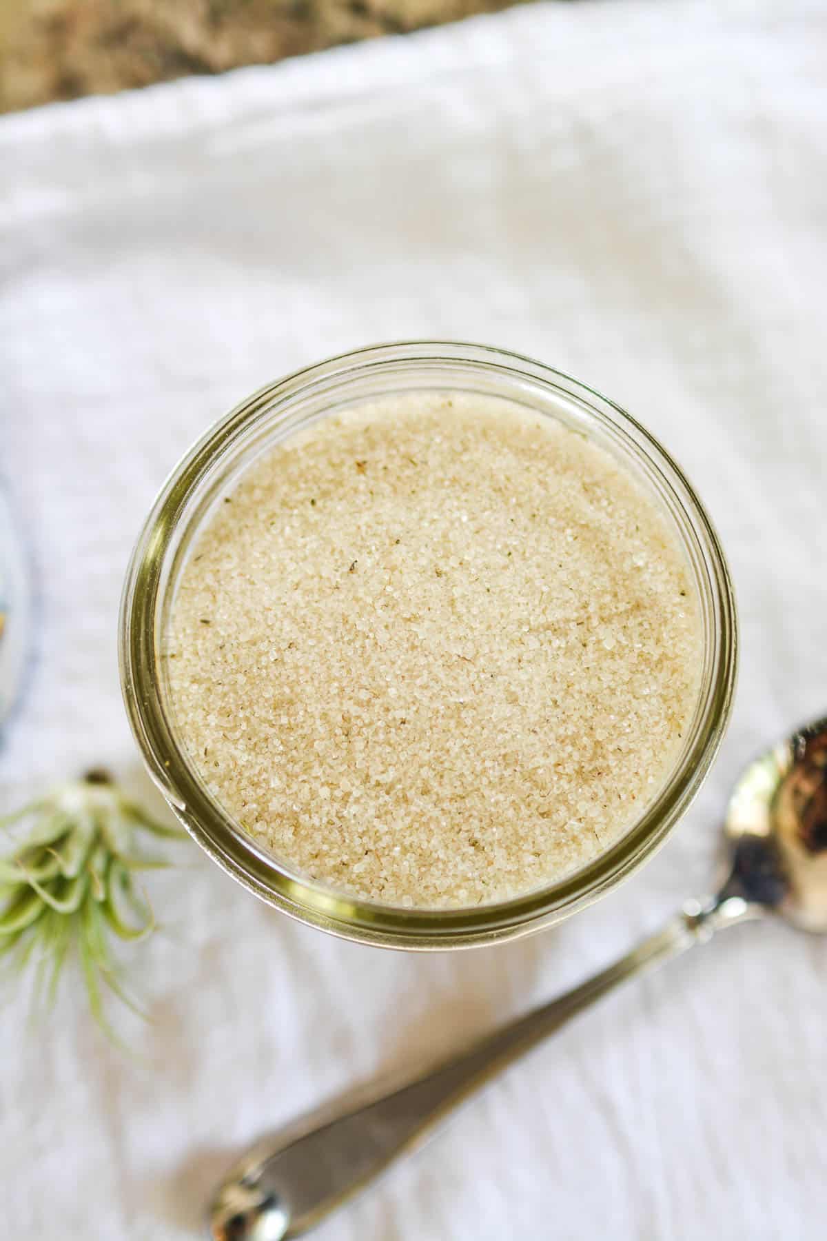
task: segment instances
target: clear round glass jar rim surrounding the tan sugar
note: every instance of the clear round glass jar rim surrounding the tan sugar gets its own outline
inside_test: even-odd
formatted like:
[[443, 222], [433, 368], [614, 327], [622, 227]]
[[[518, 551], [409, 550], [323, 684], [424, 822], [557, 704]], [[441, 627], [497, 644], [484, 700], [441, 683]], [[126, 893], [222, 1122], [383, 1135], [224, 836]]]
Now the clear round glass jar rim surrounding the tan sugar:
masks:
[[[683, 750], [626, 834], [557, 882], [472, 908], [374, 905], [290, 870], [257, 844], [207, 791], [170, 707], [164, 658], [170, 609], [193, 542], [217, 500], [263, 452], [343, 407], [410, 391], [506, 397], [588, 436], [614, 454], [658, 505], [686, 555], [703, 625], [698, 702]], [[584, 908], [665, 841], [697, 793], [729, 716], [736, 664], [733, 587], [718, 539], [686, 478], [616, 405], [539, 362], [481, 345], [379, 345], [334, 357], [260, 388], [195, 444], [166, 482], [131, 557], [120, 611], [120, 676], [150, 774], [179, 819], [229, 875], [311, 926], [394, 948], [459, 948], [515, 938]]]

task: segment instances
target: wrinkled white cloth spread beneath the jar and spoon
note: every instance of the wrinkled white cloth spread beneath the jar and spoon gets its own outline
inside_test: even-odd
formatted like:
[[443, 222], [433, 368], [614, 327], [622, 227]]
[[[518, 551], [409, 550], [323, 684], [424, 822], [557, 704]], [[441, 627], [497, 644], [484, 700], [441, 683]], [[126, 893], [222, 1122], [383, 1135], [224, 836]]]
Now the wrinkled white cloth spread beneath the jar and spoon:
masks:
[[[584, 2], [0, 120], [1, 468], [38, 623], [0, 808], [141, 782], [118, 686], [130, 546], [260, 383], [376, 340], [533, 354], [682, 462], [740, 599], [738, 704], [667, 848], [558, 931], [448, 956], [338, 942], [198, 850], [151, 884], [154, 1024], [68, 987], [0, 1016], [5, 1231], [184, 1241], [259, 1133], [551, 997], [708, 884], [741, 764], [827, 710], [827, 11]], [[827, 943], [722, 937], [582, 1018], [320, 1241], [816, 1241]]]

